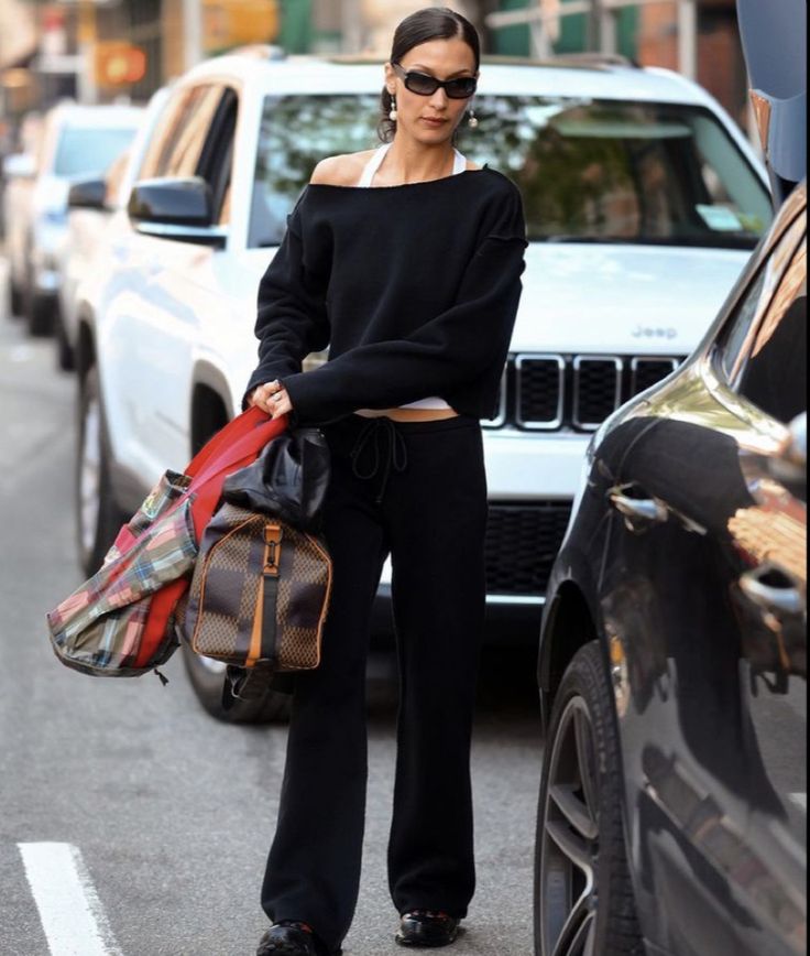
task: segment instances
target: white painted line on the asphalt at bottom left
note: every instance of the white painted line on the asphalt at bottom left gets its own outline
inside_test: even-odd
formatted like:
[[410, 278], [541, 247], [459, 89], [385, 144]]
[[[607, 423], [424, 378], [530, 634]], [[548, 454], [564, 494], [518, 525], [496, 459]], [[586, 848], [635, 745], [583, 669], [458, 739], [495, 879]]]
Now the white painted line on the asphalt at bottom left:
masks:
[[78, 848], [18, 847], [51, 956], [122, 956]]

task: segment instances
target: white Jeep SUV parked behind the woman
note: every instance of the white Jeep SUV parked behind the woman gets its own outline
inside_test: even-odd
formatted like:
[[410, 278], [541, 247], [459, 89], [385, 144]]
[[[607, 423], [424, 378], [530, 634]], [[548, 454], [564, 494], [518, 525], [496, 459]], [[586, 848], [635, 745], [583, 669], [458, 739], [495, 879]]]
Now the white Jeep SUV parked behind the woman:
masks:
[[[238, 411], [259, 280], [317, 161], [374, 145], [381, 76], [380, 63], [243, 54], [177, 82], [129, 214], [113, 215], [79, 289], [88, 569], [121, 511]], [[589, 433], [696, 345], [773, 210], [745, 138], [676, 74], [485, 63], [475, 109], [461, 148], [514, 177], [530, 240], [501, 406], [484, 423], [490, 633], [536, 642]], [[388, 596], [384, 578], [390, 631]], [[219, 713], [221, 673], [188, 662]]]

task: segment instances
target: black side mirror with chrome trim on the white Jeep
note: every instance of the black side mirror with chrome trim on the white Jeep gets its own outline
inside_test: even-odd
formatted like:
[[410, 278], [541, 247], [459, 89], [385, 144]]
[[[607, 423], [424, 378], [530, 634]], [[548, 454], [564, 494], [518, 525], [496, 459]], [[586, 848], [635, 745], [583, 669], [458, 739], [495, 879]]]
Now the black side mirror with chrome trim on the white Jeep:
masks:
[[202, 245], [222, 245], [227, 230], [214, 224], [208, 183], [199, 176], [142, 180], [127, 207], [139, 232]]

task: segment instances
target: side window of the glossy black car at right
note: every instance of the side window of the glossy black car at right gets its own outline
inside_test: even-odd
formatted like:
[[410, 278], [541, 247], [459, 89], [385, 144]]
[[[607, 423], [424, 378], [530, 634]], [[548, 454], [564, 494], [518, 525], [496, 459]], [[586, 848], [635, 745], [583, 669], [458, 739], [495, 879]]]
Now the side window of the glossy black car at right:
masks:
[[806, 225], [799, 216], [775, 245], [714, 354], [729, 385], [784, 423], [807, 408]]

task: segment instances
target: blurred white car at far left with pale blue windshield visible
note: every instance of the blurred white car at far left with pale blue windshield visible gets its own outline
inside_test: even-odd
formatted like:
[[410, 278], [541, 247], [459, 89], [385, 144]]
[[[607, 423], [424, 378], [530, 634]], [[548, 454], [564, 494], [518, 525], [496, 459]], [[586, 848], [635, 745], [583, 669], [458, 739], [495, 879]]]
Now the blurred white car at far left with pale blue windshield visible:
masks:
[[47, 335], [54, 327], [57, 252], [67, 226], [70, 182], [103, 173], [131, 141], [141, 113], [138, 107], [61, 104], [45, 117], [37, 154], [20, 154], [6, 163], [12, 308], [22, 306], [32, 335]]

